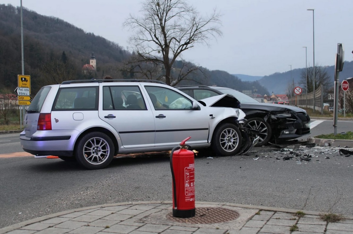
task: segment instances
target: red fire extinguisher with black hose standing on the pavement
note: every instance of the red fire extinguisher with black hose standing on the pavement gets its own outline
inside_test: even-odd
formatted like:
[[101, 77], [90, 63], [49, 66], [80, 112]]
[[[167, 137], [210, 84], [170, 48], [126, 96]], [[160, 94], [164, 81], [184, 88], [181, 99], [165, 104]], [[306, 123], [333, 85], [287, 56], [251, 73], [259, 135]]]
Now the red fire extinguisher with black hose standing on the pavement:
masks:
[[[170, 153], [170, 170], [173, 179], [173, 217], [195, 216], [195, 158], [190, 146], [181, 141]], [[179, 149], [178, 149], [179, 148]]]

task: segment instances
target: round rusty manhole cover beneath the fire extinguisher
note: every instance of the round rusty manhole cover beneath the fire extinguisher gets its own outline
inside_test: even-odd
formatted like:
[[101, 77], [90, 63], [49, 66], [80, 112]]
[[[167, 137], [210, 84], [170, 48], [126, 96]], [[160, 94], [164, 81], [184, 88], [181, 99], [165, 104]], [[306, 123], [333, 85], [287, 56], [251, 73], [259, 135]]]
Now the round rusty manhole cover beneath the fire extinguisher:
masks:
[[239, 213], [234, 210], [226, 208], [196, 208], [195, 217], [191, 218], [177, 218], [173, 217], [173, 213], [169, 213], [167, 218], [169, 220], [180, 222], [180, 223], [194, 223], [194, 224], [206, 224], [206, 223], [222, 223], [235, 220], [239, 217]]

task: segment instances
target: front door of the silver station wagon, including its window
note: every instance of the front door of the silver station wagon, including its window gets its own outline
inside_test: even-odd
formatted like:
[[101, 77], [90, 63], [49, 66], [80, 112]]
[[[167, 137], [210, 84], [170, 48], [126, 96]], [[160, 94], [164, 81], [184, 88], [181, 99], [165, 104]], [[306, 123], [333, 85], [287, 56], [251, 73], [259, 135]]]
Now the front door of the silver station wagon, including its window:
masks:
[[193, 100], [173, 89], [148, 85], [144, 87], [155, 120], [156, 147], [177, 146], [189, 136], [191, 139], [187, 144], [208, 143], [211, 117], [206, 107], [192, 109]]

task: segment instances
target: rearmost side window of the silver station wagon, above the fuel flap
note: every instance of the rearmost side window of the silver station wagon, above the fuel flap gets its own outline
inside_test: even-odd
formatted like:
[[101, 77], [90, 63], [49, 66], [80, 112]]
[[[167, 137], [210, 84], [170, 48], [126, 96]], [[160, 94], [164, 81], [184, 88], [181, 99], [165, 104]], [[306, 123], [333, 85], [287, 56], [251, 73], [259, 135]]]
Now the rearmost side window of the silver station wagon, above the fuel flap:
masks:
[[53, 110], [97, 110], [98, 87], [61, 88]]

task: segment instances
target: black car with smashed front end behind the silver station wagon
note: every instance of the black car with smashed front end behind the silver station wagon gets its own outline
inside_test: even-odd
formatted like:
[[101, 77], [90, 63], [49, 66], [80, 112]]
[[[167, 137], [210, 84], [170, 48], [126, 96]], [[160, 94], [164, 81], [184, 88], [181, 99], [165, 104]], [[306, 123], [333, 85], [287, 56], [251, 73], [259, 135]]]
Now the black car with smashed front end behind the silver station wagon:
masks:
[[258, 132], [260, 138], [256, 146], [293, 140], [310, 134], [310, 128], [307, 126], [310, 117], [299, 107], [258, 102], [246, 94], [226, 87], [195, 85], [175, 88], [196, 100], [220, 94], [236, 97], [241, 103], [240, 109], [246, 114], [245, 127]]

